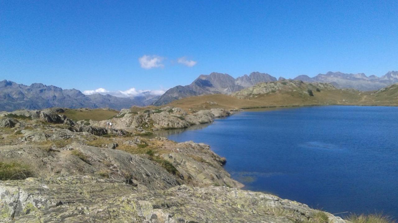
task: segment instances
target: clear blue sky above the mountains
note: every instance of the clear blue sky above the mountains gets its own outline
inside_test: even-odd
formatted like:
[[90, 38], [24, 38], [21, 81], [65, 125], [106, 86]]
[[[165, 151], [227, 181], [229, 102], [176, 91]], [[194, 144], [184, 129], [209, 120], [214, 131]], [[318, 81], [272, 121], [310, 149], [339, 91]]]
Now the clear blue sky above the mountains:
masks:
[[115, 91], [213, 71], [381, 76], [398, 70], [397, 12], [398, 1], [0, 0], [0, 79]]

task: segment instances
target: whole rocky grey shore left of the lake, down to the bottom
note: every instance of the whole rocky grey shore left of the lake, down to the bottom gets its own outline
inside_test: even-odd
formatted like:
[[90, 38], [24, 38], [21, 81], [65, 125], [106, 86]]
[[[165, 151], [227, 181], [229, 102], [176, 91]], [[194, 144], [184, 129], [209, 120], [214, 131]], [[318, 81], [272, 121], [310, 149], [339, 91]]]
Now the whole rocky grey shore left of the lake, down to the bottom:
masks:
[[[106, 121], [72, 121], [62, 109], [0, 113], [0, 222], [344, 223], [239, 189], [226, 160], [205, 144], [140, 136], [229, 114], [123, 110], [110, 130]], [[18, 172], [5, 179], [12, 167]]]

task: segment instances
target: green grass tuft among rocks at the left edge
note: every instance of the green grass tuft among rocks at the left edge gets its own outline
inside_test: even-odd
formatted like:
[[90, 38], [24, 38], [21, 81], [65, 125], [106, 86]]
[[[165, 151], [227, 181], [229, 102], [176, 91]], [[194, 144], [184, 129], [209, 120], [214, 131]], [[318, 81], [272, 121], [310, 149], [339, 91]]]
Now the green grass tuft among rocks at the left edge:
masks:
[[23, 180], [28, 177], [33, 177], [29, 165], [16, 161], [0, 162], [0, 180]]

